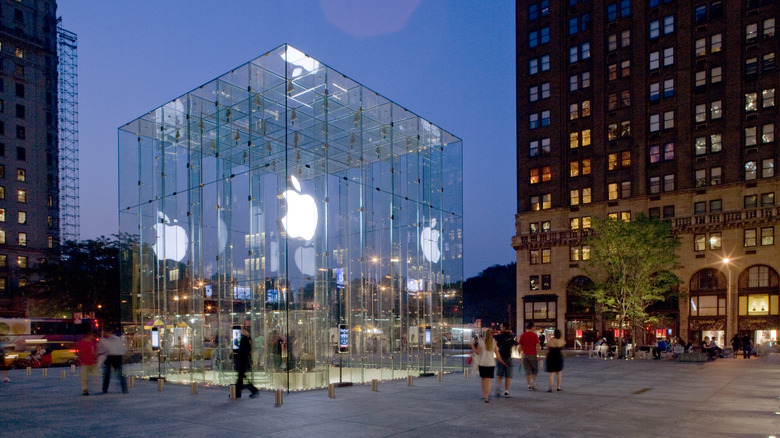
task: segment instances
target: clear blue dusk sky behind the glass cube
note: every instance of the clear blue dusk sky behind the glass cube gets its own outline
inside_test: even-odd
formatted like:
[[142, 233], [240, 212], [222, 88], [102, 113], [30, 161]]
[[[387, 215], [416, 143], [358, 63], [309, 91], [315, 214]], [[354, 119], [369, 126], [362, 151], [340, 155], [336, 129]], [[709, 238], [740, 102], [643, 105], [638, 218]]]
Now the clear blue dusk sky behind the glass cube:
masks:
[[460, 137], [465, 276], [514, 261], [514, 1], [59, 3], [78, 35], [82, 239], [118, 231], [121, 125], [289, 43]]

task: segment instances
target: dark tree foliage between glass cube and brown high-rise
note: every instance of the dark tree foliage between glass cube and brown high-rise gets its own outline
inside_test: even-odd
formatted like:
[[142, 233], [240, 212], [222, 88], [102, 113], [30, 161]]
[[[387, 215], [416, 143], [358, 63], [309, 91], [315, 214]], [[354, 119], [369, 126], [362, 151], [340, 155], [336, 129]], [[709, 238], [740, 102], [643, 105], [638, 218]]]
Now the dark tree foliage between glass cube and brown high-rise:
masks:
[[[517, 303], [517, 264], [493, 265], [463, 283], [463, 321], [509, 322]], [[510, 317], [511, 314], [511, 317]]]

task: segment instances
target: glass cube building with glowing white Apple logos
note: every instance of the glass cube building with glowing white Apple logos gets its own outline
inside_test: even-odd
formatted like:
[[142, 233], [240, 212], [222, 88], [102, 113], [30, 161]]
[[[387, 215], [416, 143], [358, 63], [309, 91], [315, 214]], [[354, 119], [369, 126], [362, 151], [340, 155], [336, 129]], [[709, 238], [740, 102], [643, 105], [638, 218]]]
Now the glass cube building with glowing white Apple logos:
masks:
[[133, 373], [298, 390], [462, 369], [462, 142], [283, 45], [119, 128]]

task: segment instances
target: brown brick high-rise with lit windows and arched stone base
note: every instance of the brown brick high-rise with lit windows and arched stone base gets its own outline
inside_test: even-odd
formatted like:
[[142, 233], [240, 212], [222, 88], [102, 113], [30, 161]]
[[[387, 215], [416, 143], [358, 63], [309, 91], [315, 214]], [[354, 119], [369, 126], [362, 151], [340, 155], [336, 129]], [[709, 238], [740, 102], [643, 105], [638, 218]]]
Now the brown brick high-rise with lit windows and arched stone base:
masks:
[[518, 322], [620, 334], [576, 300], [584, 238], [644, 213], [682, 243], [649, 339], [777, 339], [778, 18], [768, 0], [517, 1]]

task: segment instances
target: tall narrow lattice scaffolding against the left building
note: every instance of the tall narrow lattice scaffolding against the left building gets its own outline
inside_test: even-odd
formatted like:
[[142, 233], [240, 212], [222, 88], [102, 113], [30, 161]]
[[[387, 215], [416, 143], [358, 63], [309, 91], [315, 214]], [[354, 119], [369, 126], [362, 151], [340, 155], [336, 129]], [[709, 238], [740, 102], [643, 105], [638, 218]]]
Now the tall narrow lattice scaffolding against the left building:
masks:
[[76, 34], [57, 19], [60, 239], [79, 240], [79, 87]]

